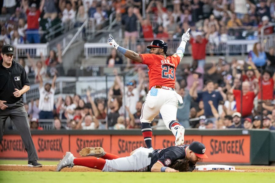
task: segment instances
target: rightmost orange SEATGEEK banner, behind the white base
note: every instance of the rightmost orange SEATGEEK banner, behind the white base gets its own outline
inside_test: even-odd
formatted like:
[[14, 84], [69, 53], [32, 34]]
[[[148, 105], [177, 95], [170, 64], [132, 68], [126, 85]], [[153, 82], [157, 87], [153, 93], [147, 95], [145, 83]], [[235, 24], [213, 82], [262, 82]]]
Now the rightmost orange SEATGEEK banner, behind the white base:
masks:
[[208, 159], [203, 162], [250, 163], [250, 135], [202, 136]]

